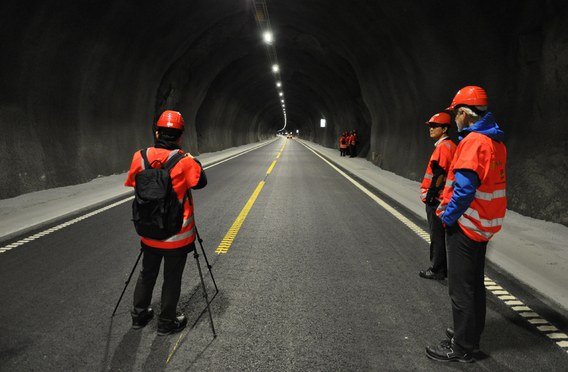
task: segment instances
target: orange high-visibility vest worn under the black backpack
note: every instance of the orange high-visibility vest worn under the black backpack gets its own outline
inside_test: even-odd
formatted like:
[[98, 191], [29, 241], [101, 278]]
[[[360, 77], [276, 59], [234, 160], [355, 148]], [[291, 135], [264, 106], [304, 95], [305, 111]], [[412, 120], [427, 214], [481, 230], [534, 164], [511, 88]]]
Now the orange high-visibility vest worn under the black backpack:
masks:
[[[165, 164], [168, 159], [182, 150], [167, 150], [161, 148], [150, 147], [146, 153], [148, 162], [152, 164], [153, 161], [159, 160]], [[159, 164], [156, 162], [156, 167]], [[128, 176], [125, 186], [136, 186], [136, 174], [144, 169], [144, 160], [140, 155], [140, 151], [134, 153], [132, 164], [128, 171]], [[154, 240], [140, 237], [140, 240], [149, 247], [162, 248], [162, 249], [176, 249], [184, 247], [195, 240], [195, 222], [193, 218], [193, 201], [191, 200], [191, 193], [188, 191], [197, 185], [201, 177], [201, 166], [193, 160], [190, 156], [185, 156], [181, 159], [170, 171], [170, 178], [172, 180], [172, 187], [176, 192], [180, 203], [184, 203], [183, 224], [181, 230], [174, 236], [165, 240]]]

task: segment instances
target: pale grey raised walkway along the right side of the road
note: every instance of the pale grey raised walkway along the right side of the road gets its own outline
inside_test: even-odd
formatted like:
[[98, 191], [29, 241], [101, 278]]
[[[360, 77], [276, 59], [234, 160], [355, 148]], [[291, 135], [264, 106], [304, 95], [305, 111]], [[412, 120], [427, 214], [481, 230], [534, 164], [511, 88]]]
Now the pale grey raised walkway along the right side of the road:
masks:
[[[356, 175], [380, 193], [425, 221], [418, 198], [420, 183], [385, 171], [364, 158], [340, 158], [339, 151], [308, 141], [303, 145], [318, 152], [333, 164]], [[410, 196], [409, 196], [410, 195]], [[502, 231], [491, 240], [487, 260], [524, 286], [538, 293], [538, 298], [568, 317], [568, 227], [507, 211]]]

